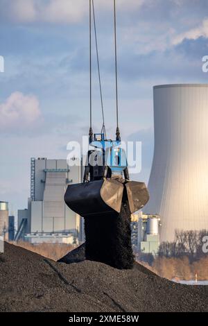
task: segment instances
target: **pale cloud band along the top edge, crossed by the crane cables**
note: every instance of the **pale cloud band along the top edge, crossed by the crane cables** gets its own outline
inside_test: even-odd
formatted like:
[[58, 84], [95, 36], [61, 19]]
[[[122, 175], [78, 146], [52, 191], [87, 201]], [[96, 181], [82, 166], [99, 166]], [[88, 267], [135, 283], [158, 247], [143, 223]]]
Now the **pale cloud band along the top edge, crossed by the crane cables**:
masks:
[[[145, 0], [117, 0], [118, 10], [133, 11]], [[146, 0], [153, 1], [153, 0]], [[113, 10], [112, 0], [95, 0], [96, 8]], [[74, 24], [89, 13], [88, 0], [0, 0], [0, 15], [12, 22], [51, 22]]]

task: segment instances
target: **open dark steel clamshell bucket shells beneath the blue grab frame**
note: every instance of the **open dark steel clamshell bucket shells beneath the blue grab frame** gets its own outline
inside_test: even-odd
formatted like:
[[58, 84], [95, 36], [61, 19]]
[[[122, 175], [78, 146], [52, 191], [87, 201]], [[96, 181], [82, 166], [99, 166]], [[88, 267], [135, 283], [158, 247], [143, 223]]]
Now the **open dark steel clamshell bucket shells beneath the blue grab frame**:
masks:
[[64, 200], [73, 212], [83, 217], [119, 213], [124, 187], [126, 187], [131, 213], [146, 205], [149, 194], [144, 182], [124, 183], [116, 179], [69, 185]]

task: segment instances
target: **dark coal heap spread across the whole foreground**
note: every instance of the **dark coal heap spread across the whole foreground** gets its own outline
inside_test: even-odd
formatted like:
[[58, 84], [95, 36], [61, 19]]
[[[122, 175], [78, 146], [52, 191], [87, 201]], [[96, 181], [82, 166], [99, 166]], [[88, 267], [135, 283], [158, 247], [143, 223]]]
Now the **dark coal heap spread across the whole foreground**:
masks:
[[208, 311], [208, 287], [162, 279], [135, 264], [62, 264], [6, 243], [0, 311]]

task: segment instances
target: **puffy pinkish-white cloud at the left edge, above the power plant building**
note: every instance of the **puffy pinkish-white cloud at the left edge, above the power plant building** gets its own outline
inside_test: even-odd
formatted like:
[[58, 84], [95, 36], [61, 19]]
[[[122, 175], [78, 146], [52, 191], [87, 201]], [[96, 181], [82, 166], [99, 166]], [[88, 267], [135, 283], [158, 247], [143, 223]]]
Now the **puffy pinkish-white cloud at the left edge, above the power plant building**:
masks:
[[39, 102], [33, 95], [14, 92], [0, 104], [0, 117], [0, 131], [31, 128], [41, 117]]

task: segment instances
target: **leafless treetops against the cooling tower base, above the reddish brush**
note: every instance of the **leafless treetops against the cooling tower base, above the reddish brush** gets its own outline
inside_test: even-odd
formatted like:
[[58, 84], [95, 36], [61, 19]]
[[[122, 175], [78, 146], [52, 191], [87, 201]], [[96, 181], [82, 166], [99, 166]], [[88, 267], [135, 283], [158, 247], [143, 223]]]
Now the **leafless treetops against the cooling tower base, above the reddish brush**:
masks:
[[159, 257], [190, 257], [200, 258], [207, 255], [202, 250], [204, 237], [208, 235], [207, 230], [183, 231], [175, 230], [175, 239], [173, 242], [162, 242], [159, 246]]

